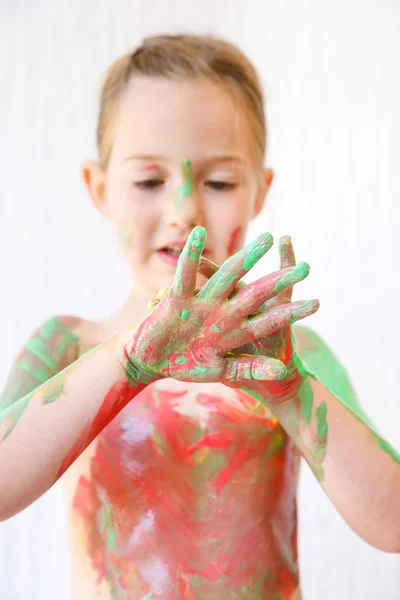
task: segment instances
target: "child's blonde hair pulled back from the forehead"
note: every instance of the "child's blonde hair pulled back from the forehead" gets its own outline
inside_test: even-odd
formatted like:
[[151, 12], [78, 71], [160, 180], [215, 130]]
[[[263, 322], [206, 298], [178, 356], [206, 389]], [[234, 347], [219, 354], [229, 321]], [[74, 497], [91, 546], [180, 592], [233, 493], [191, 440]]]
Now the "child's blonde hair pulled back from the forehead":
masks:
[[262, 169], [266, 147], [264, 95], [256, 69], [237, 46], [213, 35], [154, 35], [116, 60], [100, 89], [97, 150], [106, 168], [112, 150], [113, 116], [135, 75], [186, 79], [206, 77], [225, 84], [245, 110], [254, 135], [254, 155]]

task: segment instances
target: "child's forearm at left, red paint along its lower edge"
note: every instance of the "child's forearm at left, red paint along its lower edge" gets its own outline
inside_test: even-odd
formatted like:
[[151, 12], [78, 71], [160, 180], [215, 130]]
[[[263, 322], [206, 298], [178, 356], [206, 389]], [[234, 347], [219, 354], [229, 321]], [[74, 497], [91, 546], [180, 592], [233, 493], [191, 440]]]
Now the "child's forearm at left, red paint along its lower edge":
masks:
[[0, 412], [1, 520], [46, 492], [151, 381], [122, 349], [117, 334]]

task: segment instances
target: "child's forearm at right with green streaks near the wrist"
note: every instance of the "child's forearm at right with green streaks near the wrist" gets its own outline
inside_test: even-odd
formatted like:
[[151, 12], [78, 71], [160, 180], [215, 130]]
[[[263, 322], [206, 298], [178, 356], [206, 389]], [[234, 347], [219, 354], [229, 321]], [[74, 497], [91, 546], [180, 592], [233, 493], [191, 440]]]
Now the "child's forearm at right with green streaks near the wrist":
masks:
[[400, 552], [400, 456], [320, 381], [304, 383], [271, 410], [347, 523], [375, 547]]

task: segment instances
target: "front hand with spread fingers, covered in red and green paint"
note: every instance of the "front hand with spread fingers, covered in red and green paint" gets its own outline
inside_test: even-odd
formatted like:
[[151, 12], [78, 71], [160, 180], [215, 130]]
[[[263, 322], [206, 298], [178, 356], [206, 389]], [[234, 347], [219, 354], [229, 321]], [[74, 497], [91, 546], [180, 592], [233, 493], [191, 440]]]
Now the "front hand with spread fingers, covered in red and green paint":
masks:
[[[172, 377], [226, 385], [243, 385], [252, 379], [282, 379], [286, 367], [281, 361], [266, 356], [233, 355], [231, 350], [312, 314], [318, 302], [293, 302], [257, 312], [266, 300], [282, 291], [277, 284], [291, 269], [253, 283], [251, 294], [242, 293], [240, 299], [235, 299], [235, 294], [230, 297], [238, 281], [271, 248], [273, 239], [269, 233], [261, 234], [226, 260], [196, 293], [205, 239], [203, 227], [192, 230], [171, 286], [152, 313], [130, 330], [130, 341], [124, 344], [128, 377], [140, 383]], [[297, 280], [303, 278], [304, 269], [299, 271]], [[126, 341], [128, 331], [123, 332], [122, 340]]]

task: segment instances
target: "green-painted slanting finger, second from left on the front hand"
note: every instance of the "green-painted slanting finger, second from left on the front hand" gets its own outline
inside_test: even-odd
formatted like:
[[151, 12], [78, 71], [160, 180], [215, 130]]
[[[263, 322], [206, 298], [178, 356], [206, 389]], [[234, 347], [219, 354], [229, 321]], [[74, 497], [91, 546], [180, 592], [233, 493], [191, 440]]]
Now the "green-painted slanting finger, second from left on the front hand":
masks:
[[228, 258], [205, 283], [198, 298], [225, 300], [245, 275], [273, 244], [270, 233], [262, 233], [250, 244]]

